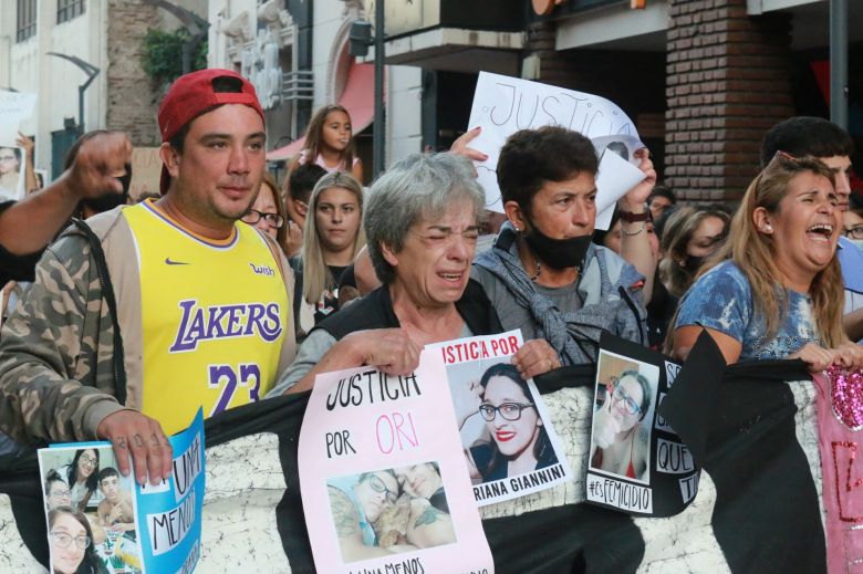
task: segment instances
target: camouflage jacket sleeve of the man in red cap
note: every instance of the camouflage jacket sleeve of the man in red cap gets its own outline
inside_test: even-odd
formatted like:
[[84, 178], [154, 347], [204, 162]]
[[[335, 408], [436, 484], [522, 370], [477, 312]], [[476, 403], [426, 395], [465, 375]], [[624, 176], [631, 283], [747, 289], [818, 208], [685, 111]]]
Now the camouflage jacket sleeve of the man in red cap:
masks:
[[104, 306], [89, 243], [61, 238], [2, 327], [0, 430], [21, 442], [92, 440], [96, 425], [123, 408], [113, 378], [100, 375], [113, 348], [104, 348], [113, 343]]

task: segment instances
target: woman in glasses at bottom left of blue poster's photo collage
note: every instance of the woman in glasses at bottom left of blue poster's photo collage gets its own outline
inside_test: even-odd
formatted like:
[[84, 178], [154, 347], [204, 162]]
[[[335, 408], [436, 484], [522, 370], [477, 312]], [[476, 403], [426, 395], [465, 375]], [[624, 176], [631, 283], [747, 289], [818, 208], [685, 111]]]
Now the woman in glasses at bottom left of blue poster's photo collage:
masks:
[[96, 556], [90, 523], [82, 512], [59, 507], [48, 513], [51, 571], [54, 574], [101, 574], [106, 572]]

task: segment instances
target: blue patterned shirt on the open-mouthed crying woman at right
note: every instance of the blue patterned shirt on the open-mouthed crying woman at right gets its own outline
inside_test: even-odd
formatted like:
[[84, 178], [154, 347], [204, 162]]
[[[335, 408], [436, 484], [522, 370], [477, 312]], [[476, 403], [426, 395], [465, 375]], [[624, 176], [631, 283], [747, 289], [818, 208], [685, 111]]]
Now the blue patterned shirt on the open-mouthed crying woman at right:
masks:
[[696, 281], [680, 300], [676, 327], [700, 325], [742, 345], [740, 361], [784, 358], [808, 343], [820, 344], [808, 295], [786, 290], [788, 314], [776, 335], [765, 338], [767, 322], [757, 315], [746, 274], [732, 261], [719, 263]]

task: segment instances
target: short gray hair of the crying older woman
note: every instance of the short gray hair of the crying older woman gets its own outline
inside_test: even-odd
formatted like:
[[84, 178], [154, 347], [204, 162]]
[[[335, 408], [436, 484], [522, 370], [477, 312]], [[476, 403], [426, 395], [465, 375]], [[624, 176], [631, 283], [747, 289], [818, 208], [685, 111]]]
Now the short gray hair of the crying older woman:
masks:
[[384, 259], [382, 246], [395, 253], [402, 251], [410, 227], [420, 219], [443, 217], [458, 201], [474, 208], [474, 218], [479, 223], [486, 194], [477, 182], [472, 164], [464, 156], [412, 154], [377, 178], [366, 198], [363, 216], [368, 255], [377, 279], [384, 284], [395, 279], [395, 270]]

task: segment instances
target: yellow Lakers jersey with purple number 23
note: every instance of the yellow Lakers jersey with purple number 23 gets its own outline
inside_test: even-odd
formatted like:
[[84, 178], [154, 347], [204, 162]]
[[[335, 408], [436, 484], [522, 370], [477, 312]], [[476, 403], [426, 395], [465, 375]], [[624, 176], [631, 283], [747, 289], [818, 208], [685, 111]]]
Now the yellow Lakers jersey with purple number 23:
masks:
[[266, 240], [241, 222], [223, 241], [202, 238], [152, 201], [123, 215], [141, 271], [143, 413], [170, 435], [198, 407], [210, 417], [263, 397], [292, 328]]

